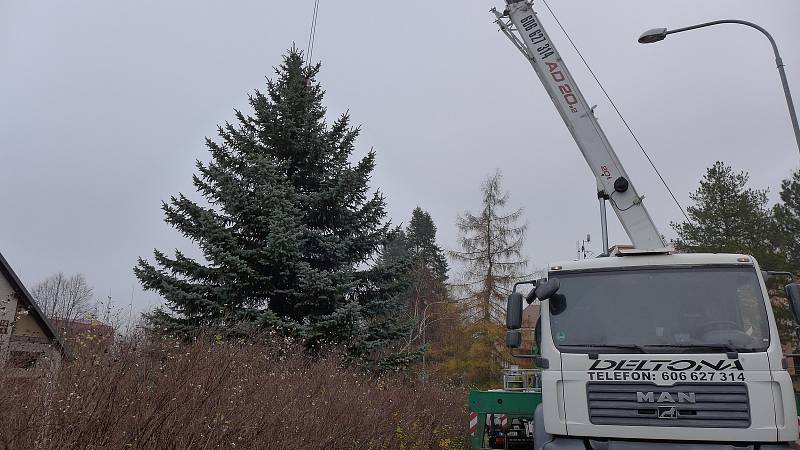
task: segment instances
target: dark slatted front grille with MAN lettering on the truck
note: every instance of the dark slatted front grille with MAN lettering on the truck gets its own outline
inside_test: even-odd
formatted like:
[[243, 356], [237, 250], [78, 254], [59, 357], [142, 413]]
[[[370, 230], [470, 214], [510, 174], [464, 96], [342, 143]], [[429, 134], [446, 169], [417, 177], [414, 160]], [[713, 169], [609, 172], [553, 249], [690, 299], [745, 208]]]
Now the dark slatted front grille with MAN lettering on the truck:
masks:
[[587, 383], [595, 425], [747, 428], [750, 400], [740, 383]]

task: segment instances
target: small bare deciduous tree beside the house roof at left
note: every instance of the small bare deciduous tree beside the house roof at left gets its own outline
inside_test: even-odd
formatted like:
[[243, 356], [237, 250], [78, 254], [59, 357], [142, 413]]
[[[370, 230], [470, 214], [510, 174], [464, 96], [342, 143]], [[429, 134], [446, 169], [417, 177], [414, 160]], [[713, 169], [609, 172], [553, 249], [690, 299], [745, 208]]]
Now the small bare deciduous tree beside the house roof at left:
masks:
[[93, 289], [80, 273], [50, 275], [35, 285], [31, 294], [48, 319], [83, 319], [94, 310]]

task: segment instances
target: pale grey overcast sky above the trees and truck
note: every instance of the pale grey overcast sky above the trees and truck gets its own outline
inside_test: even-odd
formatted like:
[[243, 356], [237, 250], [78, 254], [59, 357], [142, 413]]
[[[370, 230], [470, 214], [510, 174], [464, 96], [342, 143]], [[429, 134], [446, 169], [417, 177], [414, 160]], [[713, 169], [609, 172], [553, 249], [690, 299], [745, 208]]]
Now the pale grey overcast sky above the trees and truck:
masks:
[[[0, 252], [32, 286], [81, 272], [98, 297], [159, 303], [132, 267], [153, 248], [191, 249], [162, 200], [192, 193], [205, 136], [297, 43], [313, 0], [0, 0]], [[531, 67], [497, 32], [502, 0], [321, 0], [314, 59], [331, 116], [363, 126], [372, 184], [394, 223], [419, 205], [456, 242], [481, 180], [505, 174], [525, 208], [534, 267], [599, 247], [595, 181]], [[800, 98], [797, 0], [550, 0], [656, 164], [689, 204], [723, 160], [777, 199], [800, 162], [766, 39], [738, 25], [640, 45], [645, 29], [738, 18], [767, 28]], [[681, 219], [635, 143], [540, 2], [536, 9], [662, 233]], [[613, 217], [613, 216], [612, 216]], [[627, 242], [613, 218], [611, 242]]]

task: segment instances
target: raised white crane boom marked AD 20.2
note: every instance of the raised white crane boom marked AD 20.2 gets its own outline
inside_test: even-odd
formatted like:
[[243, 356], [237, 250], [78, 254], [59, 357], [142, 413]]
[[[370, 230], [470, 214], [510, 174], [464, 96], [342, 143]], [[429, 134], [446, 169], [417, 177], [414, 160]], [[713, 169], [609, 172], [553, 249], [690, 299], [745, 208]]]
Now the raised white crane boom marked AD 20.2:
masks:
[[531, 63], [550, 99], [597, 179], [598, 197], [617, 214], [633, 246], [641, 250], [665, 246], [661, 233], [636, 193], [630, 178], [555, 45], [533, 11], [531, 0], [506, 0], [503, 13], [493, 9], [500, 30]]

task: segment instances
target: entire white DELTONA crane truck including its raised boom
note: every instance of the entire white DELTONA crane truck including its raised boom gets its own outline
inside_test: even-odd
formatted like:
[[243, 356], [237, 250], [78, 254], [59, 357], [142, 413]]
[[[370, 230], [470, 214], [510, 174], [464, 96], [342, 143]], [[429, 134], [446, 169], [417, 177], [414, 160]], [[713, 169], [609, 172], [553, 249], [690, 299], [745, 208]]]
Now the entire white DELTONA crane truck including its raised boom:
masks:
[[[604, 254], [549, 264], [527, 296], [515, 286], [507, 345], [519, 347], [523, 302], [540, 302], [541, 391], [473, 393], [473, 411], [532, 418], [536, 450], [793, 448], [794, 390], [758, 262], [668, 248], [533, 1], [493, 12], [597, 180]], [[608, 250], [606, 203], [632, 248]], [[800, 285], [786, 292], [797, 320]]]

